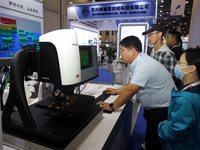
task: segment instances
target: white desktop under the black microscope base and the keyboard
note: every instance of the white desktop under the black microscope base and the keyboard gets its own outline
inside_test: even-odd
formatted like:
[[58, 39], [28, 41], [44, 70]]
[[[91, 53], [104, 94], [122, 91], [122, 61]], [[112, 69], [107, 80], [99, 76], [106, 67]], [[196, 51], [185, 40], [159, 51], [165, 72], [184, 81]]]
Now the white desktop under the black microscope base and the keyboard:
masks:
[[[81, 88], [83, 88], [81, 86]], [[103, 85], [103, 84], [92, 84], [88, 83], [86, 88], [82, 91], [81, 94], [86, 95], [93, 95], [95, 97], [98, 97], [100, 94], [102, 94], [103, 90], [106, 88], [119, 88], [121, 85]], [[106, 102], [113, 102], [117, 96], [110, 96]], [[134, 105], [135, 108], [138, 108], [138, 104]], [[115, 123], [117, 122], [124, 106], [116, 110], [115, 112], [112, 112], [112, 114], [103, 113], [103, 119], [99, 121], [99, 123], [96, 125], [96, 127], [89, 133], [89, 135], [82, 141], [80, 145], [77, 146], [76, 150], [101, 150], [104, 146], [110, 132], [112, 131]], [[135, 112], [133, 113], [134, 116], [137, 117], [137, 112], [139, 109], [134, 109]], [[135, 117], [135, 120], [136, 120]], [[134, 117], [133, 117], [134, 118]], [[134, 120], [132, 121], [132, 124], [135, 124]], [[10, 150], [9, 147], [4, 146], [4, 150]]]

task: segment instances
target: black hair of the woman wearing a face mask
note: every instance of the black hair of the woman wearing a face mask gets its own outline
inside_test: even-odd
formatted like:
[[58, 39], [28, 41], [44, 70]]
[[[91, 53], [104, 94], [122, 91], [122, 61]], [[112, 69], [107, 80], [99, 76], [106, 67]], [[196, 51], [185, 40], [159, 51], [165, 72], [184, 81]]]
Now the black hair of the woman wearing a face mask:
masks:
[[200, 48], [189, 48], [184, 51], [188, 65], [195, 65], [200, 79]]

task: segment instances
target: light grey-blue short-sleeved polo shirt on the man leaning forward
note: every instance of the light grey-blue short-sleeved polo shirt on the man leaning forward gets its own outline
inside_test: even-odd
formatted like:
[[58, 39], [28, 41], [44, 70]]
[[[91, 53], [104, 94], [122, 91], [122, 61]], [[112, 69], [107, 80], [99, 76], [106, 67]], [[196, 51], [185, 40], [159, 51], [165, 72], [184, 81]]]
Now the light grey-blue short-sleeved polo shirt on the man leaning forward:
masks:
[[136, 98], [146, 109], [168, 107], [174, 81], [167, 69], [147, 54], [140, 53], [130, 65], [130, 83], [141, 86]]

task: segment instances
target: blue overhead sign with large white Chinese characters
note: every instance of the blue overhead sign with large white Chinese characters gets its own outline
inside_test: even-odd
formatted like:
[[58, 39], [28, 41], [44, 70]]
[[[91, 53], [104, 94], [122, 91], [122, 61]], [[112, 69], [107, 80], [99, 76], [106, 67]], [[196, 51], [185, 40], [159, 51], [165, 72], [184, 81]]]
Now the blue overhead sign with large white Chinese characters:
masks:
[[128, 1], [75, 5], [79, 20], [116, 18], [155, 18], [156, 1]]

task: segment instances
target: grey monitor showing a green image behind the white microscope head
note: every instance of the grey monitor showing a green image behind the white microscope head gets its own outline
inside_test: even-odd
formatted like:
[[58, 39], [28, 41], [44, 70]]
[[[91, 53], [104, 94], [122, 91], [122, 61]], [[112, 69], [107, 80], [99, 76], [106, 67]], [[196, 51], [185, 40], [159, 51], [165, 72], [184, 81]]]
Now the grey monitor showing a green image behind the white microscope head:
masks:
[[79, 46], [81, 60], [81, 83], [98, 77], [97, 47]]

